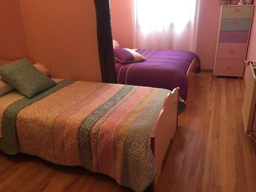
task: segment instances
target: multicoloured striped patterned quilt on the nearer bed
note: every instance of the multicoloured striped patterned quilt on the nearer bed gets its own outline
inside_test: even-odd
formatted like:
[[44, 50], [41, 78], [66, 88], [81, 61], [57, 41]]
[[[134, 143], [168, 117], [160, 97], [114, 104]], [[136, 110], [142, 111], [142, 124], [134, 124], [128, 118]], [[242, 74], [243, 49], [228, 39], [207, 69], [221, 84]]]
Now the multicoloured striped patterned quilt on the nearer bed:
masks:
[[156, 175], [150, 136], [168, 93], [59, 81], [32, 100], [24, 97], [6, 108], [0, 149], [83, 166], [114, 178], [121, 186], [143, 191]]

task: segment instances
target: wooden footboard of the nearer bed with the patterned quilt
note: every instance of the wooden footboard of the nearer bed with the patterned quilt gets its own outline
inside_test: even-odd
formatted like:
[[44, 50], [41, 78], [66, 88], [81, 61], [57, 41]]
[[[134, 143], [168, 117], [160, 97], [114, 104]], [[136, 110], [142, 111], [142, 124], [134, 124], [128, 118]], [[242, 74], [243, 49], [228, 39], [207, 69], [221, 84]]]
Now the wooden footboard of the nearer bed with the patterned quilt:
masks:
[[150, 190], [155, 191], [155, 186], [159, 179], [162, 169], [162, 163], [167, 152], [170, 141], [178, 126], [178, 100], [179, 88], [174, 89], [172, 93], [166, 96], [163, 109], [159, 114], [156, 125], [151, 135], [151, 148], [157, 165], [157, 175]]

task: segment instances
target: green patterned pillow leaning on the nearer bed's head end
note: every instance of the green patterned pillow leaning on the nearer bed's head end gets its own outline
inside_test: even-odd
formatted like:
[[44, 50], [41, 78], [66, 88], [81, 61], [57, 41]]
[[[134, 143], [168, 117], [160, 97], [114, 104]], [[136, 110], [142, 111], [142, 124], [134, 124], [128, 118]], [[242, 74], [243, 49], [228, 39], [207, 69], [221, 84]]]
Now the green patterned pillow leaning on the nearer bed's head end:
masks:
[[0, 66], [0, 76], [29, 98], [57, 84], [31, 65], [27, 58]]

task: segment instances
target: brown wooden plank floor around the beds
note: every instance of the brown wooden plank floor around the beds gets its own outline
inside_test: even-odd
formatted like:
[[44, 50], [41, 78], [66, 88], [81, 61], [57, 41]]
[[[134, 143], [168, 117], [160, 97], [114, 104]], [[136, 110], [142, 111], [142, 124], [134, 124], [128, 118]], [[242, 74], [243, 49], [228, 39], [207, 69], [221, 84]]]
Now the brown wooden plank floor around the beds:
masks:
[[[201, 73], [170, 145], [157, 191], [256, 191], [255, 148], [244, 134], [243, 83]], [[80, 167], [0, 153], [0, 191], [131, 191]]]

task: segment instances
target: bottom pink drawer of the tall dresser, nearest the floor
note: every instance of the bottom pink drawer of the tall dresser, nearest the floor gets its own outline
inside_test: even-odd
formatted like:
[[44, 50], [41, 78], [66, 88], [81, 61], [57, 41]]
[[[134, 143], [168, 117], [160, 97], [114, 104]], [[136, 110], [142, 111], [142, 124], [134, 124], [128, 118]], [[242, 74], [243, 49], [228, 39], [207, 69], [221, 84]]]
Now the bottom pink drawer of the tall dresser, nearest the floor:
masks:
[[243, 76], [244, 60], [217, 59], [215, 75]]

